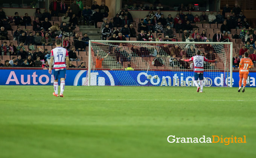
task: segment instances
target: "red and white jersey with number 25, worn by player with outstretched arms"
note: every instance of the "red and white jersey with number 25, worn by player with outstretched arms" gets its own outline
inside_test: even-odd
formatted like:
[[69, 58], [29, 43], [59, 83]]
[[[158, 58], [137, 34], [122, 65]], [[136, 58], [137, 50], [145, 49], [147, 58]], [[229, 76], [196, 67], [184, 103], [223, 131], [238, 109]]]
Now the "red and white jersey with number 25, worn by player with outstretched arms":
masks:
[[190, 59], [186, 59], [184, 61], [192, 61], [194, 62], [194, 72], [203, 73], [204, 72], [204, 61], [205, 62], [215, 62], [214, 60], [208, 60], [204, 56], [196, 55]]

